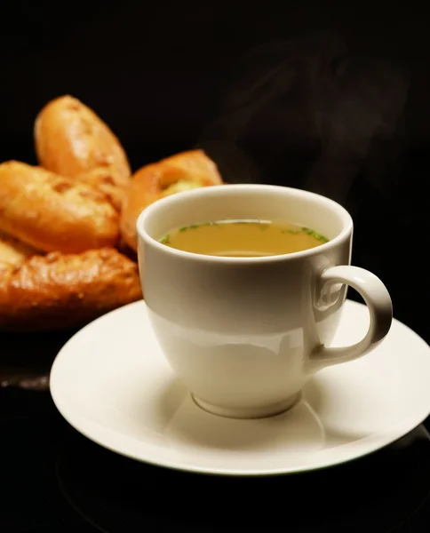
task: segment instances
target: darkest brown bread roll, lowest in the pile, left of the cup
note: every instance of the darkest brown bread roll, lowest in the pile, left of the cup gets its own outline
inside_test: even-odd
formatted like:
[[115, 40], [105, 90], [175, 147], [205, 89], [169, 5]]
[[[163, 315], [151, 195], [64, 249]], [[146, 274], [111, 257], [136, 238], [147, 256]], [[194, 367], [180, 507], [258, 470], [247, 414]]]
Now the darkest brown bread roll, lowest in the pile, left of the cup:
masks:
[[136, 263], [114, 249], [35, 256], [0, 274], [0, 328], [80, 327], [141, 298]]

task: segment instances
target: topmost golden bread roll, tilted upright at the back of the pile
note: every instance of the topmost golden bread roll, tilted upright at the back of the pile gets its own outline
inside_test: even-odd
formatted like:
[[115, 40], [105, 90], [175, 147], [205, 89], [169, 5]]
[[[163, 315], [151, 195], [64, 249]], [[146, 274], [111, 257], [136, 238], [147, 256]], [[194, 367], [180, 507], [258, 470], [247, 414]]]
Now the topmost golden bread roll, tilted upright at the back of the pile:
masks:
[[36, 154], [41, 166], [62, 176], [94, 184], [91, 171], [104, 169], [112, 183], [99, 182], [104, 190], [120, 190], [131, 170], [119, 140], [98, 115], [71, 96], [49, 102], [35, 122]]

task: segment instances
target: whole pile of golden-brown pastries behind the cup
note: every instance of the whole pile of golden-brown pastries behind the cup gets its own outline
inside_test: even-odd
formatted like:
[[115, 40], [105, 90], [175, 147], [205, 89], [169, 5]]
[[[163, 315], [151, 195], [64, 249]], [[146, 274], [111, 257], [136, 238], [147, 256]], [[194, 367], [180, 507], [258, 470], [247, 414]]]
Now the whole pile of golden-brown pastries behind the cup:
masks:
[[136, 220], [164, 195], [221, 184], [199, 150], [131, 175], [120, 141], [70, 96], [34, 129], [38, 166], [0, 164], [0, 330], [68, 330], [142, 298]]

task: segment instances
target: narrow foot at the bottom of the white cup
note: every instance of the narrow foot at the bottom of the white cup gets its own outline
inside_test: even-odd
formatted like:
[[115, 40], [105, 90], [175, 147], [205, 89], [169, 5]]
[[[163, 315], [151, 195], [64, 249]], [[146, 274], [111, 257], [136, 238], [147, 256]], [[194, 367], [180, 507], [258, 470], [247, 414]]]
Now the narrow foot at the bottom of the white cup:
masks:
[[195, 404], [197, 405], [197, 407], [200, 407], [201, 409], [207, 411], [208, 413], [211, 413], [212, 415], [217, 415], [219, 417], [268, 418], [268, 417], [275, 417], [276, 415], [280, 415], [286, 410], [290, 410], [292, 407], [294, 407], [296, 403], [298, 403], [299, 400], [301, 399], [301, 392], [299, 392], [298, 394], [294, 394], [294, 396], [287, 398], [287, 400], [284, 400], [283, 402], [272, 403], [271, 405], [267, 405], [265, 407], [250, 407], [250, 408], [220, 407], [219, 405], [213, 405], [213, 403], [206, 402], [205, 400], [202, 400], [201, 398], [196, 397], [195, 394], [191, 394], [191, 397], [193, 401], [195, 402]]

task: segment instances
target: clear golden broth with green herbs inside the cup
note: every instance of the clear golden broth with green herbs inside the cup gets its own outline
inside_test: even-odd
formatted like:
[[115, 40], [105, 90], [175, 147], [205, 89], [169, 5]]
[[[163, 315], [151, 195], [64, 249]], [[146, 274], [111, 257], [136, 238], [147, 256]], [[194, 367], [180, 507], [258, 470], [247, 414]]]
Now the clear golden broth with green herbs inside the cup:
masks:
[[226, 219], [176, 227], [160, 243], [203, 255], [255, 258], [303, 251], [327, 243], [309, 227], [255, 219]]

